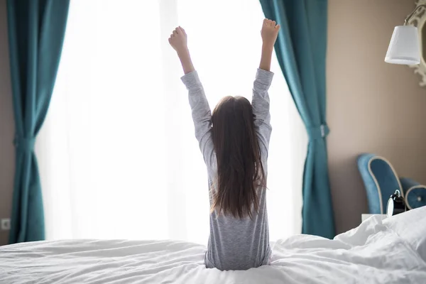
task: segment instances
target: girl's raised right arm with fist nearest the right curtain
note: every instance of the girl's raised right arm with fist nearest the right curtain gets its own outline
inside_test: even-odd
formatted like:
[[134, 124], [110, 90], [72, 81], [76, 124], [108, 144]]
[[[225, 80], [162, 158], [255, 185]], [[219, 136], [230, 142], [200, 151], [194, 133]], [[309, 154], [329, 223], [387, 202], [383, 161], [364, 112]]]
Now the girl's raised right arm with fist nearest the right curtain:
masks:
[[262, 25], [262, 53], [261, 63], [256, 73], [256, 80], [253, 83], [253, 107], [254, 125], [258, 134], [263, 153], [268, 155], [269, 140], [271, 138], [271, 114], [269, 114], [268, 89], [271, 86], [273, 72], [271, 72], [271, 60], [273, 45], [280, 31], [280, 25], [275, 25], [275, 21], [263, 20]]

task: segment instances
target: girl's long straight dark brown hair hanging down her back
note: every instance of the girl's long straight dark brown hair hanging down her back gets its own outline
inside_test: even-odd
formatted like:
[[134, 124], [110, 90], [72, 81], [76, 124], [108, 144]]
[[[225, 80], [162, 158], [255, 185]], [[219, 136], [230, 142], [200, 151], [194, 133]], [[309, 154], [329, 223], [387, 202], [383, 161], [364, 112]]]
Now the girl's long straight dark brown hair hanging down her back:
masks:
[[259, 187], [266, 188], [266, 179], [248, 99], [224, 97], [217, 104], [212, 138], [217, 158], [212, 211], [252, 218], [259, 209]]

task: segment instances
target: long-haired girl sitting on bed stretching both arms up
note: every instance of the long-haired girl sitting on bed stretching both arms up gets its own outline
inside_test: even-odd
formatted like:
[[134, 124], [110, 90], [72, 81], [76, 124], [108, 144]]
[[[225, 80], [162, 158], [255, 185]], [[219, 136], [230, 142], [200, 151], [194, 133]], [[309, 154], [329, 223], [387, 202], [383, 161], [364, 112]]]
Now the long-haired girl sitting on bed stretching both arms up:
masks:
[[176, 28], [169, 43], [178, 53], [189, 92], [195, 137], [209, 175], [210, 235], [205, 264], [219, 270], [246, 270], [270, 263], [266, 175], [271, 116], [268, 89], [273, 45], [280, 30], [265, 19], [261, 63], [253, 99], [224, 97], [210, 112], [192, 65], [187, 35]]

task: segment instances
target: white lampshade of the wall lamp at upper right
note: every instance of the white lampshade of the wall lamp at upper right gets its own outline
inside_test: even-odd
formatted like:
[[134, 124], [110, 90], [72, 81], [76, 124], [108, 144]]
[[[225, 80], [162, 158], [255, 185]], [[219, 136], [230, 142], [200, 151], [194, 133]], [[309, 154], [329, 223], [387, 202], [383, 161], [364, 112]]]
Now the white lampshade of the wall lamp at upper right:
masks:
[[415, 26], [396, 26], [385, 62], [415, 65], [420, 63], [419, 36]]

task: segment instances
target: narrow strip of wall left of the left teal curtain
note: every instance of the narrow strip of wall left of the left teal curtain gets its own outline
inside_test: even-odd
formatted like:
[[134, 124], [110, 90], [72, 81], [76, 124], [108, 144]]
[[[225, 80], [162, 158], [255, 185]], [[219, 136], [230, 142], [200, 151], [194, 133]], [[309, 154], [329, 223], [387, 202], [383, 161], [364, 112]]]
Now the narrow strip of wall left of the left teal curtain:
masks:
[[[15, 154], [13, 148], [14, 121], [9, 72], [6, 0], [0, 0], [0, 219], [9, 218]], [[0, 246], [7, 243], [8, 232], [0, 231]]]

